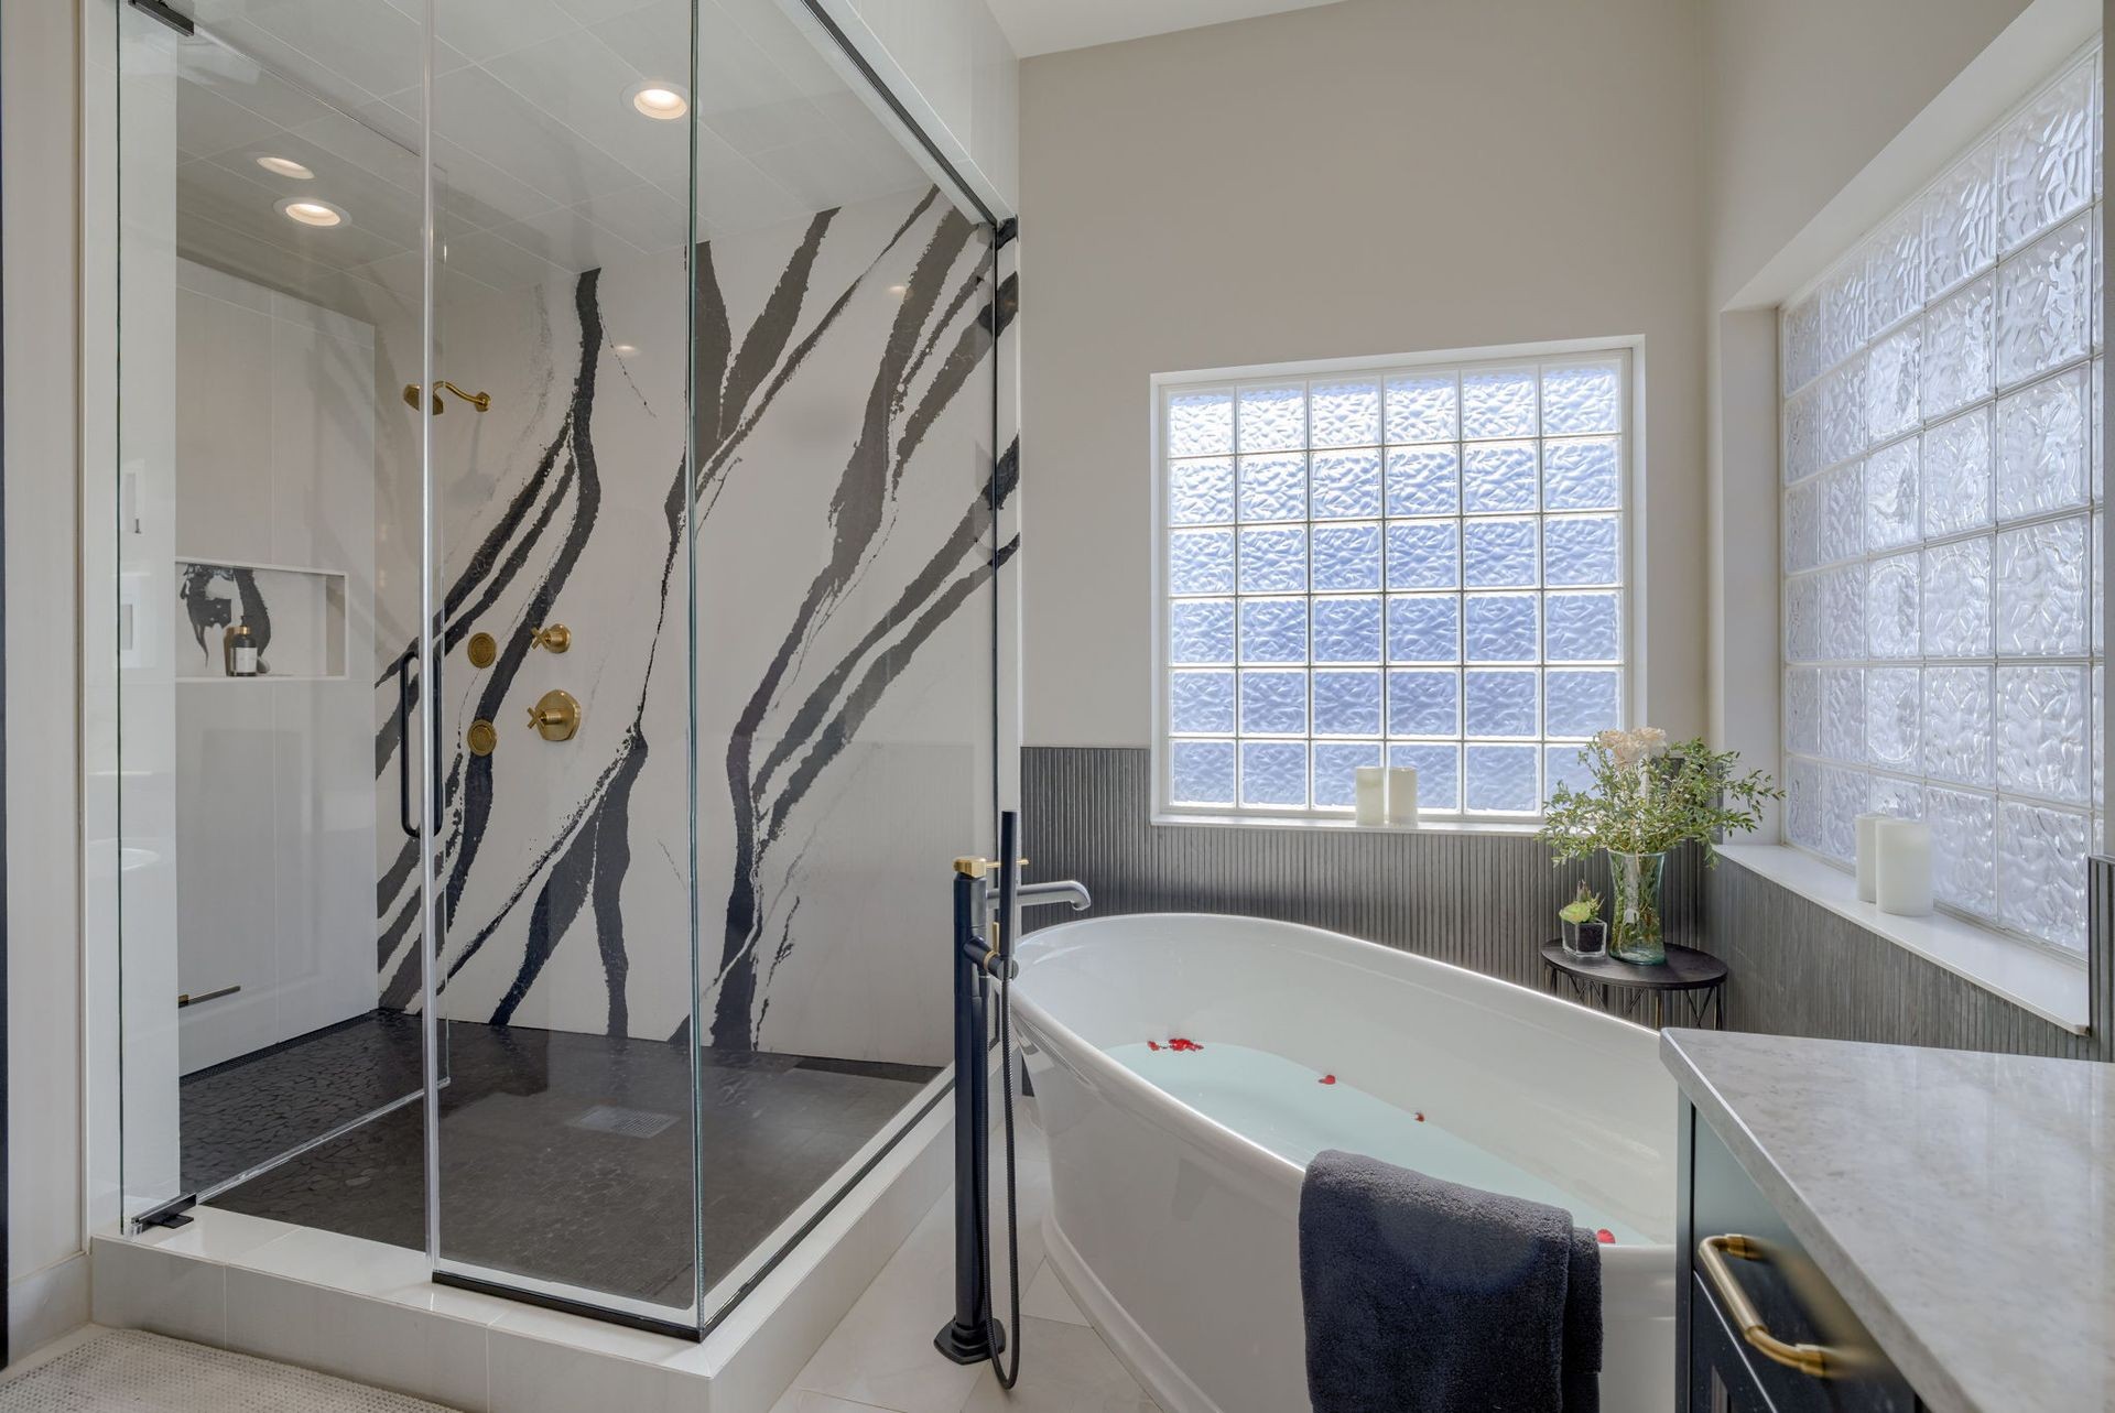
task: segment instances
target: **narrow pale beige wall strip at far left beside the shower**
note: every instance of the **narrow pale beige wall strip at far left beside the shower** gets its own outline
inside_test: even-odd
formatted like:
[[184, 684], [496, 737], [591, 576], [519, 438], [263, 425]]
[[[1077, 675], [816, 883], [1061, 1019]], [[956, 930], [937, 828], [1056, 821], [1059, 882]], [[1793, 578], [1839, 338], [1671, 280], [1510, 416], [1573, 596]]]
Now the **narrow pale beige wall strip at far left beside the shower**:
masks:
[[78, 874], [76, 6], [0, 6], [6, 247], [8, 1335], [87, 1318]]

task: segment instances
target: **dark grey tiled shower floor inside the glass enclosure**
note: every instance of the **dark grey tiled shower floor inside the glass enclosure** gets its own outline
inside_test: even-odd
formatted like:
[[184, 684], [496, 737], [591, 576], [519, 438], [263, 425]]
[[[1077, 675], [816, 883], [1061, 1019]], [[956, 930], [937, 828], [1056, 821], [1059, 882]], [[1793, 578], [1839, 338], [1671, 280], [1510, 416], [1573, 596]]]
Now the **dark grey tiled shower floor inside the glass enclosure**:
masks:
[[[406, 1022], [417, 1036], [417, 1022]], [[450, 1261], [683, 1305], [757, 1248], [937, 1072], [924, 1066], [700, 1051], [692, 1208], [689, 1058], [681, 1045], [455, 1022], [440, 1098], [440, 1231]], [[266, 1070], [283, 1053], [262, 1056]], [[412, 1049], [417, 1083], [417, 1047]], [[258, 1102], [286, 1081], [258, 1075]], [[241, 1108], [235, 1070], [220, 1113]], [[601, 1113], [599, 1113], [601, 1111]], [[611, 1132], [611, 1117], [615, 1115]], [[658, 1119], [675, 1117], [660, 1125]], [[190, 1111], [186, 1106], [186, 1146]], [[588, 1125], [584, 1125], [584, 1121]], [[626, 1132], [628, 1130], [628, 1132]], [[423, 1106], [273, 1168], [214, 1206], [425, 1246]]]

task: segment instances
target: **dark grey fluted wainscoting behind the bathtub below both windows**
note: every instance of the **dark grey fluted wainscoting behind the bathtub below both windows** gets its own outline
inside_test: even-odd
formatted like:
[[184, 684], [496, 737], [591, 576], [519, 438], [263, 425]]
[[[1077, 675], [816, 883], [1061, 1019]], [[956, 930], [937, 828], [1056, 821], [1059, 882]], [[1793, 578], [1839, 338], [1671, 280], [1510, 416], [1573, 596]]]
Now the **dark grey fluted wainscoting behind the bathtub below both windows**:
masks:
[[[1098, 914], [1225, 912], [1326, 926], [1542, 986], [1535, 950], [1584, 876], [1527, 836], [1153, 825], [1140, 747], [1022, 751], [1030, 878], [1079, 878]], [[2092, 869], [2096, 1034], [2052, 1026], [1893, 941], [1743, 869], [1669, 863], [1669, 939], [1724, 956], [1728, 1026], [1842, 1041], [2107, 1058], [2115, 867]], [[1062, 920], [1030, 914], [1026, 926]]]

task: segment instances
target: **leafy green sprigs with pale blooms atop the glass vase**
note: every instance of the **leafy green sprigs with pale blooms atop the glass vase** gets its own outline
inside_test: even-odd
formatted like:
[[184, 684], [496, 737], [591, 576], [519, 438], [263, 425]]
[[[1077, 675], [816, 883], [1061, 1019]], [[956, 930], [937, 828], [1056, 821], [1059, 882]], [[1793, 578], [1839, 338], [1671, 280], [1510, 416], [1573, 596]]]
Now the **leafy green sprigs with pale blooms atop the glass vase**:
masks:
[[1764, 802], [1785, 797], [1762, 770], [1734, 774], [1739, 751], [1711, 751], [1703, 738], [1669, 745], [1650, 726], [1601, 732], [1580, 757], [1593, 787], [1559, 785], [1542, 812], [1542, 842], [1557, 863], [1597, 848], [1656, 855], [1690, 840], [1717, 863], [1715, 836], [1755, 829]]

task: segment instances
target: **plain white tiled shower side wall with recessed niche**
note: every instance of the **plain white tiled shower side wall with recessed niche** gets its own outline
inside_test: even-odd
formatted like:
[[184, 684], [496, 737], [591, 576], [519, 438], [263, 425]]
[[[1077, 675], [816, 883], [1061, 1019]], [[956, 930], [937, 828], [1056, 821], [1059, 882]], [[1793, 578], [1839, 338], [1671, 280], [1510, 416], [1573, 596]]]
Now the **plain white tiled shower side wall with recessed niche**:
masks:
[[[220, 567], [165, 605], [178, 988], [241, 986], [182, 1011], [190, 1072], [374, 1007], [374, 432], [393, 404], [370, 324], [188, 260], [178, 283], [176, 548]], [[269, 677], [222, 675], [224, 618]]]

